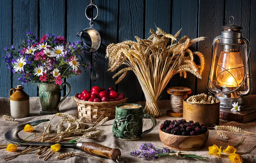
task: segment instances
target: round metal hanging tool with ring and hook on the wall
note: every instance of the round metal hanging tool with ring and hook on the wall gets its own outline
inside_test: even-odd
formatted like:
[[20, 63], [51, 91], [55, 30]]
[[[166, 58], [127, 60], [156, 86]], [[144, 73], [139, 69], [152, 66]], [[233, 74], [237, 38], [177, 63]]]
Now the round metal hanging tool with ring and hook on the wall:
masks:
[[[94, 18], [92, 18], [92, 17], [90, 18], [87, 15], [87, 11], [89, 8], [92, 8], [93, 6], [97, 9], [97, 15]], [[85, 46], [85, 51], [87, 53], [93, 54], [92, 65], [96, 71], [96, 78], [94, 78], [92, 75], [92, 70], [91, 70], [91, 81], [93, 81], [93, 82], [97, 81], [97, 79], [99, 78], [99, 72], [98, 72], [98, 68], [96, 66], [98, 55], [96, 52], [101, 47], [101, 35], [98, 32], [98, 30], [93, 28], [94, 20], [96, 18], [98, 18], [98, 15], [99, 15], [98, 6], [96, 6], [94, 4], [89, 4], [85, 9], [85, 16], [90, 21], [90, 27], [85, 28], [84, 30], [81, 30], [79, 33], [76, 34], [76, 36], [80, 37], [81, 44]]]

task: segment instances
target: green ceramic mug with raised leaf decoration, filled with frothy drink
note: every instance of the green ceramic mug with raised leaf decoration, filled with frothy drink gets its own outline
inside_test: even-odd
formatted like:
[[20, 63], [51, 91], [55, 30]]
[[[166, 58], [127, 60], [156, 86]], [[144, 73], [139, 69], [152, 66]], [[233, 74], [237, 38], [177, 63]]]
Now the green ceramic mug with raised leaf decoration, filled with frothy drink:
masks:
[[[143, 118], [150, 118], [153, 121], [153, 127], [142, 131]], [[116, 106], [116, 118], [113, 122], [112, 131], [117, 139], [137, 140], [152, 131], [155, 124], [155, 118], [148, 114], [141, 105], [125, 103]]]

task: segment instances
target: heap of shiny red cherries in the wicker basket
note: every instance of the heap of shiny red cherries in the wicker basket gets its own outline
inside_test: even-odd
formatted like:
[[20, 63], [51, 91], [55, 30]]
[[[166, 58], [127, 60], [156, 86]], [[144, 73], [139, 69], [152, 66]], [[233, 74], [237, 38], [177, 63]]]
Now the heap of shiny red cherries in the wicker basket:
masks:
[[83, 90], [82, 94], [78, 95], [78, 98], [90, 102], [110, 102], [123, 100], [125, 94], [117, 93], [113, 87], [108, 88], [106, 91], [105, 88], [94, 86], [90, 91]]

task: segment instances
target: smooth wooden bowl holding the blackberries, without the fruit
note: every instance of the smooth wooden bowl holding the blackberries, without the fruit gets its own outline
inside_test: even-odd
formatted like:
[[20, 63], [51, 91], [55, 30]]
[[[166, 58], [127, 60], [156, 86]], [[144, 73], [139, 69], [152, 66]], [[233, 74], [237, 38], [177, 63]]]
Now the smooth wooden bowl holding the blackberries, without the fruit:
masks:
[[172, 135], [159, 130], [159, 136], [165, 147], [178, 151], [195, 151], [207, 142], [209, 130], [206, 133], [195, 136]]

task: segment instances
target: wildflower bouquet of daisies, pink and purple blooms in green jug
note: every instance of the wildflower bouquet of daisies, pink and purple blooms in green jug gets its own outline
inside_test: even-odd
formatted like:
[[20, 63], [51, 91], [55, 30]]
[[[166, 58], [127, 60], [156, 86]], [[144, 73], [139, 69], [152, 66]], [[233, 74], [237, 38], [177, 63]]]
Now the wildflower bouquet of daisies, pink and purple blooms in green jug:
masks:
[[27, 33], [27, 41], [19, 45], [18, 51], [15, 51], [13, 45], [4, 49], [8, 53], [3, 57], [6, 65], [13, 73], [21, 74], [18, 80], [22, 84], [45, 82], [61, 85], [63, 78], [80, 75], [81, 67], [91, 68], [90, 63], [78, 61], [84, 52], [80, 42], [66, 42], [63, 36], [46, 34], [39, 42], [30, 31]]

